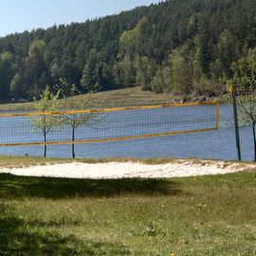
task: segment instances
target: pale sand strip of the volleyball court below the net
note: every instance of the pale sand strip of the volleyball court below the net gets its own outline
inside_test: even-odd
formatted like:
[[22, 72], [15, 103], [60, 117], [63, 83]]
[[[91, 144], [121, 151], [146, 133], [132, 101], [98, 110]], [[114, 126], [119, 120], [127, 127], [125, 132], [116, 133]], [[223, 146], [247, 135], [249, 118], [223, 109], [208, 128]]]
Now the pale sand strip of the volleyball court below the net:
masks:
[[49, 176], [68, 178], [157, 178], [184, 177], [206, 174], [230, 174], [256, 168], [255, 164], [215, 160], [180, 159], [164, 164], [138, 162], [63, 163], [25, 168], [1, 168], [0, 173], [24, 176]]

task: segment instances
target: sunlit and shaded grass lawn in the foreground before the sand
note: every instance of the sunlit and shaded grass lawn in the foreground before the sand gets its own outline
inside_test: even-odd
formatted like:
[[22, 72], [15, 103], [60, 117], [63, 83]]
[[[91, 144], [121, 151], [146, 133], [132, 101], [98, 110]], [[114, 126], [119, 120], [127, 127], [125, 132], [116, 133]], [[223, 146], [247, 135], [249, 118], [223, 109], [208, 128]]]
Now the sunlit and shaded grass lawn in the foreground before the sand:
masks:
[[255, 199], [255, 171], [120, 180], [0, 174], [0, 255], [251, 256]]

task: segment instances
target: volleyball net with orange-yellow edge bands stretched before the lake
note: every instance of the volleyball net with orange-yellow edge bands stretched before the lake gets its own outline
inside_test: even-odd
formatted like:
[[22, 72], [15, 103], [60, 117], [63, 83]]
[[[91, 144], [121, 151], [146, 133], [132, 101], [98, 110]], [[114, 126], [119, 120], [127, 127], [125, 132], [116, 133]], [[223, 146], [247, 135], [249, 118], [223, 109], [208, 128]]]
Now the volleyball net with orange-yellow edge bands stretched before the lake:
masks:
[[0, 147], [172, 136], [218, 129], [216, 101], [0, 114]]

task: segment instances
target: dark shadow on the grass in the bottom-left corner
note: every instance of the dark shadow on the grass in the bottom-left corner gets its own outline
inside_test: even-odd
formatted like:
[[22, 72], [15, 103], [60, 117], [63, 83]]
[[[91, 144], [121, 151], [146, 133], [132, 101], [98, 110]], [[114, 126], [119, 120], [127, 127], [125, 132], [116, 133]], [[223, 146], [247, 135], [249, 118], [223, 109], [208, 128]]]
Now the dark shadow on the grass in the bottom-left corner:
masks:
[[0, 204], [0, 255], [130, 255], [122, 245], [79, 240], [74, 235], [38, 229]]

